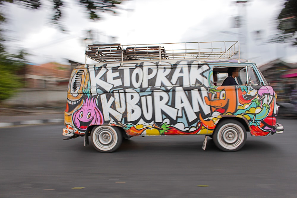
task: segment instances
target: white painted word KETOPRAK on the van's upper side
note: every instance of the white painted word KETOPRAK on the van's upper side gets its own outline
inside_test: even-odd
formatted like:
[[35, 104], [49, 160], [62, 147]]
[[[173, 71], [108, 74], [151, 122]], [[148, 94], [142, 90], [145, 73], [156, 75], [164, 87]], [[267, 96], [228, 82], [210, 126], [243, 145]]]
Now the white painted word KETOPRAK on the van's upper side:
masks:
[[[208, 65], [187, 64], [173, 66], [162, 62], [157, 66], [151, 62], [144, 62], [142, 66], [136, 64], [119, 65], [107, 64], [99, 69], [89, 68], [92, 93], [110, 92], [116, 88], [148, 88], [173, 86], [205, 85], [208, 80], [203, 72], [209, 69]], [[146, 66], [148, 65], [148, 66]], [[97, 89], [97, 91], [96, 91]]]

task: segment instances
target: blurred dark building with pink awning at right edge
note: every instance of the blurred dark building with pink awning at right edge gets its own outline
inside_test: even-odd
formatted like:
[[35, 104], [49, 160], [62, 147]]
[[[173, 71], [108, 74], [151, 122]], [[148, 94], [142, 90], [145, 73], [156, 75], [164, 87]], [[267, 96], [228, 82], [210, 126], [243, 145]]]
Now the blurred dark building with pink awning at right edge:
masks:
[[297, 63], [287, 63], [280, 59], [259, 67], [260, 71], [277, 93], [277, 102], [294, 102], [297, 89]]

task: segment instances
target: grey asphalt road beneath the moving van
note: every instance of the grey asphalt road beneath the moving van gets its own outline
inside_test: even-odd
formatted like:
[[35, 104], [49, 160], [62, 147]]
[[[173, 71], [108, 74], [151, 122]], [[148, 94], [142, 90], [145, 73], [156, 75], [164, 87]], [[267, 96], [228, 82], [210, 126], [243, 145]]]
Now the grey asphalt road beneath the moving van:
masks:
[[63, 125], [0, 129], [0, 197], [297, 197], [296, 120], [222, 152], [204, 136], [133, 137], [115, 153]]

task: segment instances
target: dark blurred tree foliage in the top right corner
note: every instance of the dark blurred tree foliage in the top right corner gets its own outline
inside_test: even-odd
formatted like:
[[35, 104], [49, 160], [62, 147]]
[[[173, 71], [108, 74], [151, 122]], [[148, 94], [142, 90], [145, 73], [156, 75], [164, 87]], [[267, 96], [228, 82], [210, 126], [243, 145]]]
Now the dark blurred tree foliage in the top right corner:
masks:
[[275, 37], [274, 42], [285, 42], [285, 39], [289, 39], [289, 42], [297, 46], [297, 0], [286, 0], [284, 6], [277, 17], [277, 28], [282, 34]]

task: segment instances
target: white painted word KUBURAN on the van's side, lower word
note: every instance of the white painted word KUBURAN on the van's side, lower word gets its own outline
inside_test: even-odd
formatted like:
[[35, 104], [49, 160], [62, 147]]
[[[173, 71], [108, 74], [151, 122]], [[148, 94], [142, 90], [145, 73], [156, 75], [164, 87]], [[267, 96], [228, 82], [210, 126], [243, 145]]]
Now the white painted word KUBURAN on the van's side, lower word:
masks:
[[[140, 96], [140, 94], [146, 95]], [[211, 112], [209, 105], [203, 102], [203, 97], [206, 95], [205, 88], [201, 91], [198, 89], [184, 91], [182, 87], [176, 87], [173, 92], [154, 90], [142, 93], [129, 88], [110, 94], [101, 94], [99, 106], [102, 106], [105, 121], [109, 121], [110, 116], [121, 120], [124, 115], [127, 115], [128, 122], [137, 122], [140, 118], [162, 122], [164, 118], [172, 120], [182, 118], [184, 111], [190, 125], [192, 121], [198, 120], [200, 108], [204, 115]], [[107, 99], [108, 96], [109, 99]]]

